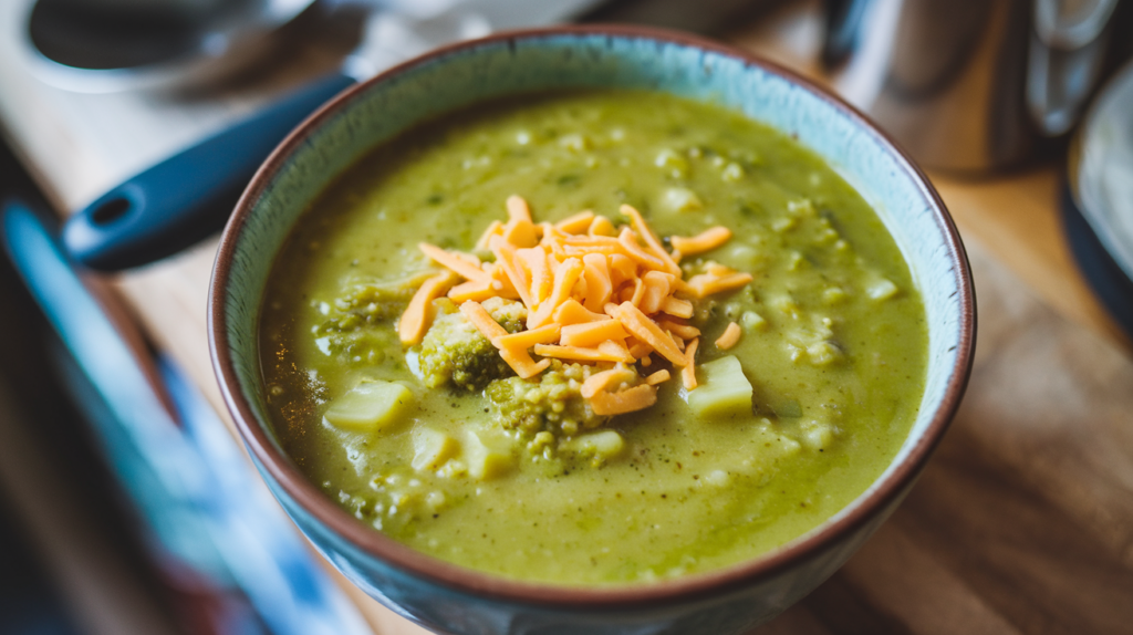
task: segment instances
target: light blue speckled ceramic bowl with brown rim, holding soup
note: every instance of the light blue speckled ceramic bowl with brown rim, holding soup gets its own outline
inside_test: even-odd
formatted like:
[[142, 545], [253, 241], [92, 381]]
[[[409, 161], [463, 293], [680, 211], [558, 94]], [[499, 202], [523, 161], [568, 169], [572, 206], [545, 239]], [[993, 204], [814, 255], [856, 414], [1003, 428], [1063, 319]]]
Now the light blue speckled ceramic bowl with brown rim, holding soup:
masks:
[[[712, 100], [798, 138], [870, 201], [921, 290], [929, 363], [920, 414], [897, 456], [853, 504], [811, 532], [722, 570], [672, 581], [564, 587], [440, 561], [356, 521], [284, 455], [266, 414], [257, 354], [259, 301], [299, 214], [383, 139], [482, 100], [566, 87], [646, 88]], [[740, 633], [826, 580], [912, 487], [963, 394], [974, 342], [963, 247], [932, 186], [845, 103], [747, 53], [687, 35], [561, 27], [449, 46], [393, 68], [325, 105], [253, 179], [224, 231], [210, 297], [221, 389], [256, 466], [315, 547], [401, 615], [457, 634]]]

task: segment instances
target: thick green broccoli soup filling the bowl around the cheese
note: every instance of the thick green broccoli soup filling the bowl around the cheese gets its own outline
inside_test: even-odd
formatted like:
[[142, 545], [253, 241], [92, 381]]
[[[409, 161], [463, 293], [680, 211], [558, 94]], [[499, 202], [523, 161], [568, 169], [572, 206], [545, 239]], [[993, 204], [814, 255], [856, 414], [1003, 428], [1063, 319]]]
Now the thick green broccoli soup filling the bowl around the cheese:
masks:
[[[753, 276], [693, 302], [700, 386], [666, 381], [655, 405], [589, 429], [563, 417], [501, 424], [497, 385], [485, 385], [494, 367], [459, 386], [423, 380], [420, 346], [397, 333], [438, 271], [417, 246], [472, 250], [510, 195], [537, 222], [591, 209], [621, 225], [630, 204], [663, 237], [731, 229], [681, 261]], [[730, 323], [742, 335], [724, 351], [714, 342]], [[443, 560], [581, 585], [724, 567], [835, 514], [904, 440], [927, 345], [896, 244], [811, 152], [715, 105], [586, 92], [431, 121], [343, 174], [274, 265], [261, 352], [284, 449], [359, 522]], [[731, 357], [750, 407], [693, 409], [718, 383], [714, 360]], [[657, 355], [641, 372], [658, 369], [679, 374]], [[381, 426], [327, 418], [368, 385], [400, 391]]]

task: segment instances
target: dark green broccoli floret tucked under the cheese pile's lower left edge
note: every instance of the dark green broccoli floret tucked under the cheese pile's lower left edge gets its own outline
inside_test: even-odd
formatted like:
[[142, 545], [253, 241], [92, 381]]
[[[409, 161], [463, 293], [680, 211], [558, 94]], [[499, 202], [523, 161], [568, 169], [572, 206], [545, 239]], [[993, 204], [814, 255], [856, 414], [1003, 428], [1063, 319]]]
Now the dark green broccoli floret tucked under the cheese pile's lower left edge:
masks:
[[[489, 302], [484, 306], [501, 326], [510, 333], [519, 331], [521, 320], [527, 317], [526, 309], [520, 312], [512, 304], [520, 309], [522, 304], [501, 300], [489, 308]], [[500, 351], [457, 312], [452, 302], [437, 301], [437, 314], [425, 333], [418, 357], [426, 386], [438, 388], [452, 383], [460, 388], [479, 391], [494, 379], [513, 375]]]

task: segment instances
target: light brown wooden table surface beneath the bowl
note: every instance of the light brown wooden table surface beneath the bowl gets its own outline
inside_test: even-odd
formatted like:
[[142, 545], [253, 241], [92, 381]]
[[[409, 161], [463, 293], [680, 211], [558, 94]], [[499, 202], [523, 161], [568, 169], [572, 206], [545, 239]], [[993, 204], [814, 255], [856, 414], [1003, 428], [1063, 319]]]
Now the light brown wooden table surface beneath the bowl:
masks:
[[[0, 2], [0, 125], [60, 212], [329, 68], [341, 51], [308, 37], [270, 72], [205, 94], [75, 95], [23, 66], [15, 29], [26, 6]], [[729, 40], [813, 76], [818, 36], [815, 2], [800, 2]], [[893, 518], [758, 633], [1133, 633], [1133, 357], [1070, 256], [1060, 170], [932, 175], [976, 277], [968, 395]], [[214, 251], [211, 239], [113, 283], [223, 414], [205, 335]], [[342, 585], [375, 633], [423, 633]]]

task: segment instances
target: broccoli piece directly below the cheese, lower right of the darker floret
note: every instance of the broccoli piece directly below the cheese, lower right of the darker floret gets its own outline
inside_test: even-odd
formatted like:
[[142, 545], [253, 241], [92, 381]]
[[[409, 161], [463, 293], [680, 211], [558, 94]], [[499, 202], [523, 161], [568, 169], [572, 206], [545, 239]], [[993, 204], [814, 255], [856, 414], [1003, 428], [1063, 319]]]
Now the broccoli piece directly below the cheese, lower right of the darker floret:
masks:
[[582, 398], [582, 383], [590, 372], [589, 366], [553, 360], [538, 380], [508, 377], [488, 384], [484, 393], [502, 428], [574, 435], [610, 420], [595, 414], [590, 403]]

